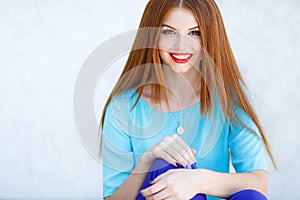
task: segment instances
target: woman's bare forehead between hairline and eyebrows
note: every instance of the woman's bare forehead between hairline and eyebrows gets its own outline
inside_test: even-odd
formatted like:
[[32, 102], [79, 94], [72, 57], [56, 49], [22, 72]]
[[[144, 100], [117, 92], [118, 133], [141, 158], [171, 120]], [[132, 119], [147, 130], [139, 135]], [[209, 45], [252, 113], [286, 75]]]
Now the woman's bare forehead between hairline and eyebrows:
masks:
[[172, 8], [164, 17], [163, 23], [174, 28], [189, 29], [198, 26], [197, 20], [189, 9], [186, 8]]

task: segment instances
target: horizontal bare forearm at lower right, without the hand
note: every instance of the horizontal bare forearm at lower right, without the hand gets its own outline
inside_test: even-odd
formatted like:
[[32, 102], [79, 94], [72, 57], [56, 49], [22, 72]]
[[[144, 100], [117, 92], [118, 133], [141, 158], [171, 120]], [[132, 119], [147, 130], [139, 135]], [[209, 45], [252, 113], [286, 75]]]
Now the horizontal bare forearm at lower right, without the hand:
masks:
[[228, 198], [232, 194], [245, 189], [257, 190], [266, 195], [267, 173], [257, 170], [249, 173], [218, 173], [199, 169], [199, 188], [202, 193]]

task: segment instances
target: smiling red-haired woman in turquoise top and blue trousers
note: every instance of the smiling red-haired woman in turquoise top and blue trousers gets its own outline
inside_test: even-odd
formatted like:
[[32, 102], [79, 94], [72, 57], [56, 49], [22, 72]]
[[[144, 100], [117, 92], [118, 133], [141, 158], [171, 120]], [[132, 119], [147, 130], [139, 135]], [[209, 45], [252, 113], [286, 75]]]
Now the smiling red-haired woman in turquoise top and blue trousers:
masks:
[[274, 160], [214, 0], [149, 1], [101, 124], [104, 199], [266, 199]]

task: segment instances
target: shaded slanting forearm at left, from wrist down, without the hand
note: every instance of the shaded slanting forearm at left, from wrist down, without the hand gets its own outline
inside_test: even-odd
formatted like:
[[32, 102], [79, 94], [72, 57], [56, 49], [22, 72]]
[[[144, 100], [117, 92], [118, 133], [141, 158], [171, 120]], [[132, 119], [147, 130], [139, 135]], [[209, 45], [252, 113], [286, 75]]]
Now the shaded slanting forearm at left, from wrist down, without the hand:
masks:
[[152, 161], [141, 159], [131, 172], [126, 181], [109, 197], [105, 200], [124, 199], [134, 200], [144, 183], [147, 172], [151, 167]]

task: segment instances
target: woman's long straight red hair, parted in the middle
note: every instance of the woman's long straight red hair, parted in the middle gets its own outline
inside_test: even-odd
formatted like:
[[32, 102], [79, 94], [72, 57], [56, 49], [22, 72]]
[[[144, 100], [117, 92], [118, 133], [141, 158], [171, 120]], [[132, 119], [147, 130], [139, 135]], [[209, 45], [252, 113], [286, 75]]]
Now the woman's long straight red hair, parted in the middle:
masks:
[[[135, 88], [138, 93], [135, 106], [143, 93], [144, 84], [151, 80], [155, 82], [151, 84], [152, 101], [160, 103], [161, 99], [165, 98], [168, 102], [163, 71], [159, 67], [162, 63], [156, 47], [159, 28], [164, 17], [170, 9], [176, 7], [189, 9], [194, 14], [200, 29], [204, 53], [200, 76], [201, 116], [206, 116], [207, 112], [212, 113], [214, 105], [212, 92], [216, 90], [222, 112], [230, 123], [242, 124], [247, 128], [237, 117], [237, 108], [250, 116], [258, 127], [264, 146], [277, 168], [262, 125], [245, 94], [246, 84], [238, 69], [220, 11], [214, 0], [150, 0], [148, 2], [125, 68], [104, 106], [101, 126], [104, 123], [106, 108], [115, 96]], [[143, 67], [133, 70], [139, 66]]]

